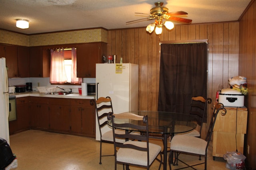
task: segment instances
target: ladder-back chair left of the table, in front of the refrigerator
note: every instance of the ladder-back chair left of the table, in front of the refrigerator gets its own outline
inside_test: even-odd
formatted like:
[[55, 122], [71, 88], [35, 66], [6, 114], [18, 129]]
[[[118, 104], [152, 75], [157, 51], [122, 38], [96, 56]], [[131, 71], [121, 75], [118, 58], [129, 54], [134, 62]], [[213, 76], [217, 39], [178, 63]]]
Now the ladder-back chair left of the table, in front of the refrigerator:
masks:
[[[102, 143], [114, 143], [113, 132], [111, 129], [105, 133], [102, 133], [102, 128], [104, 126], [107, 126], [108, 112], [113, 112], [112, 101], [110, 97], [106, 97], [106, 98], [100, 97], [98, 98], [98, 100], [96, 99], [90, 100], [90, 104], [95, 106], [96, 115], [98, 118], [97, 120], [98, 120], [98, 125], [100, 130], [100, 163], [99, 164], [102, 164], [101, 162], [102, 156], [114, 156], [114, 154], [102, 155]], [[116, 133], [124, 134], [125, 131], [117, 130]], [[124, 143], [125, 140], [117, 139], [116, 142]]]

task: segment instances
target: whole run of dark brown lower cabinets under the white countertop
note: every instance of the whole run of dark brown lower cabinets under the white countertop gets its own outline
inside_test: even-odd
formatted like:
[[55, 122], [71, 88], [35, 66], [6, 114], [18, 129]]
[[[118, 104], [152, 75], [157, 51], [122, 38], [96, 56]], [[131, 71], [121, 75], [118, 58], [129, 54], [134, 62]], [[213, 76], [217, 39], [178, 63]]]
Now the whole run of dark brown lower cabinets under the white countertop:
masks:
[[10, 134], [38, 129], [95, 137], [95, 108], [89, 99], [21, 97], [16, 98], [16, 113]]

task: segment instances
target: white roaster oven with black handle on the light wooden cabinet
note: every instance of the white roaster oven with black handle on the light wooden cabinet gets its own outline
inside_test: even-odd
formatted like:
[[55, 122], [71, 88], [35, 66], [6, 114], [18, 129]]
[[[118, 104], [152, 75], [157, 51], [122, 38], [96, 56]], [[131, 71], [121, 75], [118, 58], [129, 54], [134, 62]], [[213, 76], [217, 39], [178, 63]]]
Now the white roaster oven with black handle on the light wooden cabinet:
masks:
[[219, 94], [218, 102], [222, 103], [224, 106], [243, 107], [244, 95], [232, 88], [222, 89]]

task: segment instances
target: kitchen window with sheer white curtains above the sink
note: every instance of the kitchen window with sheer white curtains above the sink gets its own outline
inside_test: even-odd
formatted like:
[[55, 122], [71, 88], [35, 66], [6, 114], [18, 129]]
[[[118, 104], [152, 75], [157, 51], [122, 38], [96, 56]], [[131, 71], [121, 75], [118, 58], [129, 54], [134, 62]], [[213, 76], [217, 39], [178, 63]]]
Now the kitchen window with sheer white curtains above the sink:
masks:
[[80, 84], [76, 77], [76, 49], [51, 49], [51, 84]]

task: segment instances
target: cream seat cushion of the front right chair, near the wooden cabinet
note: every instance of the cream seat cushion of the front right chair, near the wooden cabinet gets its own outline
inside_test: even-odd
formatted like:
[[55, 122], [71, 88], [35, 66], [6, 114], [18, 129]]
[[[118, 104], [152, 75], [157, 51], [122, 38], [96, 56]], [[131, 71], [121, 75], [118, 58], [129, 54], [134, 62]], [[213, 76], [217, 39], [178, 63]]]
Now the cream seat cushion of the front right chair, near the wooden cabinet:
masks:
[[207, 142], [198, 137], [175, 135], [171, 141], [171, 150], [205, 155]]

